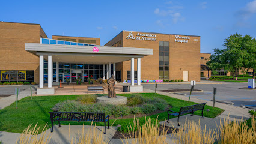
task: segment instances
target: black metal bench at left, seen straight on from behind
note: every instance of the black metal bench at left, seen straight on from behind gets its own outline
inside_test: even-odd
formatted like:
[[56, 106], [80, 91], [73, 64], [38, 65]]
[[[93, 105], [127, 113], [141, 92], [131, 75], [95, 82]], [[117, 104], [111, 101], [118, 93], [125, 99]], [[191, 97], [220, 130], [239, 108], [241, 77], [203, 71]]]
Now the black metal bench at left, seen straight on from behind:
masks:
[[[49, 113], [50, 113], [50, 121], [52, 122], [52, 130], [51, 130], [52, 132], [53, 132], [54, 121], [104, 122], [104, 134], [106, 134], [106, 122], [108, 122], [108, 129], [109, 129], [109, 115], [105, 117], [105, 113], [86, 113], [86, 112], [49, 112]], [[61, 127], [60, 122], [59, 122], [59, 127]]]

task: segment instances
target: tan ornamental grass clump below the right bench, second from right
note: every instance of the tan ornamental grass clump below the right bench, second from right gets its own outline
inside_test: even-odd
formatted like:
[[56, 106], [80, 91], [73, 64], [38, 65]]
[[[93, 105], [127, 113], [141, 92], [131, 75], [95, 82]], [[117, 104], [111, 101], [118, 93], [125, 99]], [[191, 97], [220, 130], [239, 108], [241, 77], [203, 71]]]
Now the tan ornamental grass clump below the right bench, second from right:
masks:
[[214, 143], [215, 130], [206, 130], [201, 128], [199, 124], [194, 121], [186, 121], [183, 129], [175, 132], [172, 130], [173, 140], [176, 144], [201, 144]]

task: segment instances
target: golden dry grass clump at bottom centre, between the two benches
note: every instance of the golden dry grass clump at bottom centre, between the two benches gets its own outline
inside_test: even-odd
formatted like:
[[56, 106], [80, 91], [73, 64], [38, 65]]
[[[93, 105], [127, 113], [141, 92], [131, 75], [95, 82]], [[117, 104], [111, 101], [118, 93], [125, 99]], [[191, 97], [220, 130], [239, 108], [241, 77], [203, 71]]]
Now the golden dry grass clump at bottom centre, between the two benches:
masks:
[[[135, 139], [132, 139], [132, 143], [139, 143], [139, 144], [165, 144], [166, 137], [167, 137], [167, 131], [163, 128], [163, 131], [160, 133], [160, 127], [157, 124], [153, 124], [151, 122], [151, 119], [145, 119], [144, 124], [140, 125], [139, 119], [133, 119], [133, 124], [130, 124], [128, 127], [129, 135], [130, 137], [133, 137]], [[163, 126], [165, 127], [165, 125]], [[159, 134], [162, 135], [159, 137]], [[124, 136], [125, 137], [125, 136]], [[122, 140], [122, 139], [121, 139]], [[123, 143], [129, 143], [127, 137], [123, 141]]]

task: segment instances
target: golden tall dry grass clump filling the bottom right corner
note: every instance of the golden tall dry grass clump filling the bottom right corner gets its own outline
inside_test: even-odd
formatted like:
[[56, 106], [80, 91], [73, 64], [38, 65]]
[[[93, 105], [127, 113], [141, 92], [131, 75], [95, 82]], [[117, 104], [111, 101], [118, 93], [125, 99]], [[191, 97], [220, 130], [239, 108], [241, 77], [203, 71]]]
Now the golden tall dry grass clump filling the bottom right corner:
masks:
[[252, 127], [249, 128], [245, 122], [231, 121], [230, 119], [224, 119], [224, 122], [218, 127], [217, 140], [219, 144], [251, 144], [256, 143], [256, 121], [252, 117]]

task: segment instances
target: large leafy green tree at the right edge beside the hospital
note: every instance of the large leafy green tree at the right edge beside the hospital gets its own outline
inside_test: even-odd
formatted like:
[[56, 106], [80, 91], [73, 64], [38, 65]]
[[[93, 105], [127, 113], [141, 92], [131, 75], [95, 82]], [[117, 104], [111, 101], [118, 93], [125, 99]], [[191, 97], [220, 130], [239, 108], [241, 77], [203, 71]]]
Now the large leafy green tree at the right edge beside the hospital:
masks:
[[256, 71], [256, 40], [250, 35], [233, 34], [224, 40], [224, 49], [214, 49], [206, 64], [210, 70], [231, 72], [233, 79], [239, 70]]

